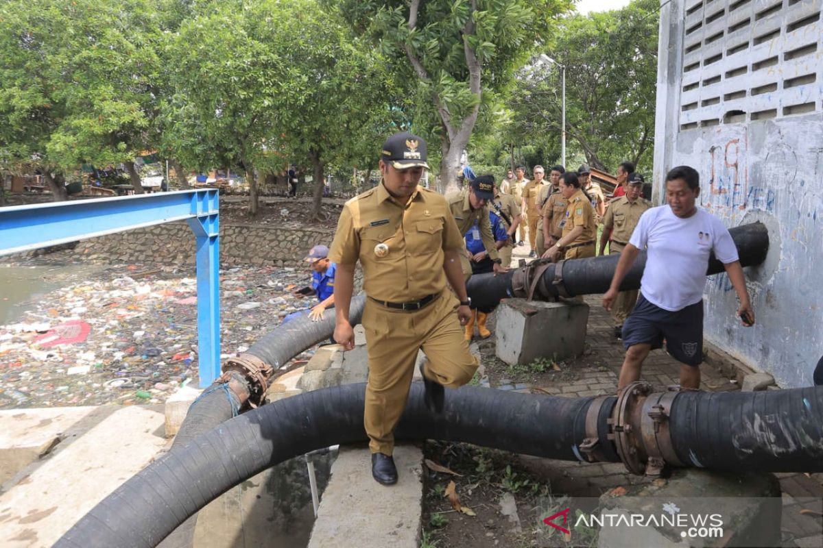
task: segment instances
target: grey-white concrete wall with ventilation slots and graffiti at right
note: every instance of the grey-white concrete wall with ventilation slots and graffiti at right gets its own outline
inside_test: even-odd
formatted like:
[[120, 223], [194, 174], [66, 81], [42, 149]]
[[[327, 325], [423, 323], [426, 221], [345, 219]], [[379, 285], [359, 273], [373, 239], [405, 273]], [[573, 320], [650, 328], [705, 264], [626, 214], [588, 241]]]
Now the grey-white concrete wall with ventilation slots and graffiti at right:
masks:
[[[661, 2], [663, 3], [663, 2]], [[700, 172], [700, 206], [728, 227], [760, 220], [765, 265], [747, 269], [753, 329], [725, 274], [706, 284], [705, 338], [811, 385], [823, 355], [821, 0], [672, 0], [661, 11], [654, 199], [673, 166]]]

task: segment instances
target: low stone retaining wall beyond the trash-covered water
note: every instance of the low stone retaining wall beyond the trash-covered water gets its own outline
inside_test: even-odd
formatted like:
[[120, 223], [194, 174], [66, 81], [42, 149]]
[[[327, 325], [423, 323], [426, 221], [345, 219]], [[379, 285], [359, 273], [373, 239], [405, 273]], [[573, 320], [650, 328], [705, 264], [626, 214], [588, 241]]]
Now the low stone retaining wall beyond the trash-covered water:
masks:
[[[223, 224], [221, 267], [305, 266], [301, 259], [309, 249], [319, 243], [331, 245], [333, 235], [333, 230], [326, 228]], [[107, 262], [194, 265], [194, 243], [194, 233], [187, 223], [165, 223], [84, 240], [74, 253], [87, 260]]]

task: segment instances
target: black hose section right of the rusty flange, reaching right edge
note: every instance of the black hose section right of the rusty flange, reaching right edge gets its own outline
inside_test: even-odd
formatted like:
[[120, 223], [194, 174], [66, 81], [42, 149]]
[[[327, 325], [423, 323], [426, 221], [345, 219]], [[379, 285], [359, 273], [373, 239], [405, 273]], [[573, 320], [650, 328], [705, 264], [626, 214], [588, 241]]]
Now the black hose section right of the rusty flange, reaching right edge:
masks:
[[823, 388], [683, 392], [672, 403], [669, 428], [677, 457], [690, 466], [768, 472], [820, 470]]

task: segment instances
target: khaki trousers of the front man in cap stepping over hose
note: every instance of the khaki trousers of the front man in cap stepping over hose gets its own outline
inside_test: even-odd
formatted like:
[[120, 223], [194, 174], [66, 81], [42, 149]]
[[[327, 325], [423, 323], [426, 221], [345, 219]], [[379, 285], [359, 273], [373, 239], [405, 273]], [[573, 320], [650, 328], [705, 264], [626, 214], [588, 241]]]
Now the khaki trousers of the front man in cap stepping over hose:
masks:
[[472, 380], [477, 359], [469, 352], [458, 320], [458, 299], [444, 290], [418, 311], [402, 311], [366, 299], [362, 324], [369, 353], [363, 424], [372, 453], [391, 455], [394, 428], [406, 408], [417, 357], [423, 348], [424, 375], [446, 388]]

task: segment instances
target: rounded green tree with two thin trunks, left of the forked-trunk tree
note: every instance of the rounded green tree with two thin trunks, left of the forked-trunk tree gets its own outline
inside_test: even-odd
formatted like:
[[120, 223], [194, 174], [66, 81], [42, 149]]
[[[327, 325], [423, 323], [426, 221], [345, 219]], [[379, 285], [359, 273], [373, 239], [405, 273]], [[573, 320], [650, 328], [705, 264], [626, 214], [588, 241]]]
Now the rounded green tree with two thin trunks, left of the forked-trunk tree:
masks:
[[164, 106], [164, 143], [186, 165], [242, 166], [251, 214], [258, 172], [308, 159], [310, 214], [319, 218], [327, 163], [361, 154], [363, 128], [388, 117], [378, 53], [314, 0], [211, 4], [181, 25], [171, 48], [176, 91]]

